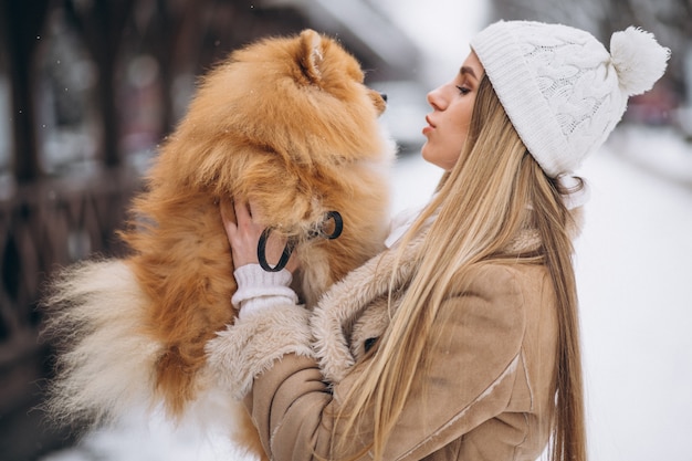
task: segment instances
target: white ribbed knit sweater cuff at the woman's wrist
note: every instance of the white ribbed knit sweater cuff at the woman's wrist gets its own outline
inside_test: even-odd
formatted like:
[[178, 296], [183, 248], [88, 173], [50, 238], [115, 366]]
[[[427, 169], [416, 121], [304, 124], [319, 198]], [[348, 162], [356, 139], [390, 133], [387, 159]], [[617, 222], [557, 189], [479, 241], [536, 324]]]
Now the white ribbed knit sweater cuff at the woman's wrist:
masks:
[[296, 304], [298, 298], [291, 289], [293, 275], [283, 269], [266, 272], [260, 264], [247, 264], [233, 272], [238, 290], [231, 297], [240, 318], [271, 308], [277, 304]]

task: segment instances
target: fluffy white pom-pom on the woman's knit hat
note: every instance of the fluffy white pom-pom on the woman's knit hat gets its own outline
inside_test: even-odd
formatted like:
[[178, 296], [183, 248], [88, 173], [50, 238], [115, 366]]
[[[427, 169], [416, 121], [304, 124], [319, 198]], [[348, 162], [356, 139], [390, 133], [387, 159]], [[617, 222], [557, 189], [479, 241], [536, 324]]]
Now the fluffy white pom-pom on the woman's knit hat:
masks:
[[652, 33], [631, 25], [612, 34], [610, 55], [620, 88], [635, 96], [651, 90], [663, 75], [670, 50], [659, 45]]

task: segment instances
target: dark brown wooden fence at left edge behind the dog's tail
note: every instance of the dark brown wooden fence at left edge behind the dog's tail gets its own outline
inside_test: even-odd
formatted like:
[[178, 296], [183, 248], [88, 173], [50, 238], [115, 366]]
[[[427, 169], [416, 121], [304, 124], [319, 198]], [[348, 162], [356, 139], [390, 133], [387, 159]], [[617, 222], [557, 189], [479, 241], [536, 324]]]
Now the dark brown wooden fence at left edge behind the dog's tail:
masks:
[[0, 453], [31, 453], [70, 443], [32, 409], [50, 377], [50, 346], [36, 342], [42, 290], [54, 271], [94, 254], [123, 252], [115, 230], [140, 185], [136, 171], [107, 169], [42, 179], [0, 198]]

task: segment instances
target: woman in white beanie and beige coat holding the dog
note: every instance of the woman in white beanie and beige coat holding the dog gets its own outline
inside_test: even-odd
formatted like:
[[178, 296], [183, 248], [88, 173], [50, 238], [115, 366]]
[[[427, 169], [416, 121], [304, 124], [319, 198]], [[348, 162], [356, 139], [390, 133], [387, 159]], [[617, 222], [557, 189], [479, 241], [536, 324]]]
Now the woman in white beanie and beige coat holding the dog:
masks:
[[[426, 160], [444, 174], [392, 247], [313, 313], [291, 271], [256, 264], [262, 229], [224, 219], [238, 322], [209, 344], [275, 460], [585, 460], [573, 176], [662, 75], [633, 28], [497, 22], [432, 91]], [[250, 203], [250, 208], [252, 203]], [[398, 238], [399, 234], [402, 235]]]

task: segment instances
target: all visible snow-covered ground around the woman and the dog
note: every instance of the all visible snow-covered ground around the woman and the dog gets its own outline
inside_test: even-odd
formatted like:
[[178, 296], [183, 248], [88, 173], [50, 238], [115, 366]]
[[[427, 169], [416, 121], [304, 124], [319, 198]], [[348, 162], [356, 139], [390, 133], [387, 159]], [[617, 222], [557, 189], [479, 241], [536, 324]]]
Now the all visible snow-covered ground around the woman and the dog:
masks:
[[[670, 136], [630, 136], [692, 159], [692, 147]], [[616, 155], [614, 144], [581, 171], [591, 200], [576, 245], [590, 459], [690, 461], [692, 189]], [[422, 205], [438, 177], [417, 155], [400, 158], [395, 209]], [[43, 461], [241, 459], [221, 438], [145, 426], [128, 421]]]

